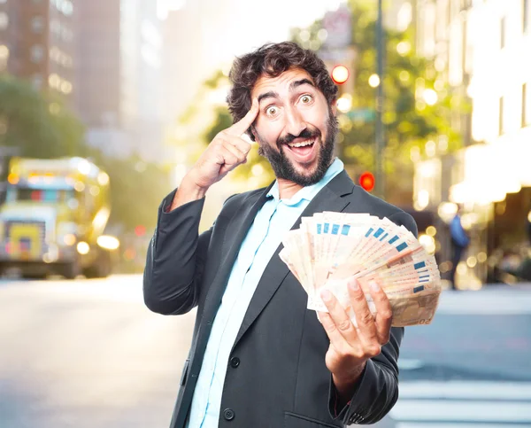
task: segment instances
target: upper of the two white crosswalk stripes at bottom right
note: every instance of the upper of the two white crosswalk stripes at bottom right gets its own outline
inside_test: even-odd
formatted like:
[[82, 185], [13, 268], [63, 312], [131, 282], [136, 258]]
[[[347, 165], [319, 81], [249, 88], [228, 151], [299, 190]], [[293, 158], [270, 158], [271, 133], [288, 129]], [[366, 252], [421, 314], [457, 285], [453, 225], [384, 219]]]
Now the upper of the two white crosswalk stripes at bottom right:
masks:
[[[473, 399], [531, 401], [531, 383], [448, 381], [404, 382], [399, 387], [402, 399]], [[529, 403], [531, 407], [531, 403]]]

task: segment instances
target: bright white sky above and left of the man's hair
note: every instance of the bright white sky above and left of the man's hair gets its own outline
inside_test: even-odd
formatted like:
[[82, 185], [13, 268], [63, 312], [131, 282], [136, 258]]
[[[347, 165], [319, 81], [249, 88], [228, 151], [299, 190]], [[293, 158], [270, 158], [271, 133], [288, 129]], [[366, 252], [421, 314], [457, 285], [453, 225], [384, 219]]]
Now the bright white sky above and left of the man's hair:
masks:
[[[254, 51], [264, 43], [289, 39], [289, 29], [307, 27], [335, 10], [341, 0], [158, 0], [159, 17], [168, 10], [185, 17], [175, 24], [178, 45], [168, 60], [174, 72], [166, 84], [166, 111], [181, 113], [193, 102], [205, 79], [228, 70], [236, 56]], [[173, 55], [174, 54], [174, 55]]]

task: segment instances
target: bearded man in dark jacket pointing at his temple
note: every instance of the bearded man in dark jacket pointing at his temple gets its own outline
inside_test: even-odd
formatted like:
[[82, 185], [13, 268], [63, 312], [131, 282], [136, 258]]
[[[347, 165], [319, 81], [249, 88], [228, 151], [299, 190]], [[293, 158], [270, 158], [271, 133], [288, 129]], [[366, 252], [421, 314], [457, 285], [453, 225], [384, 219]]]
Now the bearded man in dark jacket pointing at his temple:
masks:
[[[334, 159], [337, 88], [324, 63], [295, 43], [269, 44], [235, 60], [228, 105], [235, 124], [216, 136], [159, 208], [144, 272], [151, 310], [196, 326], [172, 428], [335, 427], [373, 424], [398, 396], [391, 307], [378, 284], [375, 318], [350, 283], [358, 328], [329, 292], [329, 313], [280, 260], [281, 239], [301, 216], [370, 213], [412, 217], [363, 191]], [[212, 226], [197, 228], [209, 187], [246, 160], [247, 133], [273, 167], [266, 189], [228, 198]], [[319, 321], [320, 320], [320, 321]]]

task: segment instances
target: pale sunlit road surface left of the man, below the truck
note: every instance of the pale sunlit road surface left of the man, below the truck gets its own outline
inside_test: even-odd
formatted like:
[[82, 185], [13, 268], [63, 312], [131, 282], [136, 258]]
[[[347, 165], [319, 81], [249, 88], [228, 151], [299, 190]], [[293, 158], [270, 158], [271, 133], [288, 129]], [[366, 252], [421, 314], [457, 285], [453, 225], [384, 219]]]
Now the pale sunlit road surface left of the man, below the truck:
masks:
[[194, 314], [142, 302], [141, 276], [0, 283], [0, 427], [167, 427]]

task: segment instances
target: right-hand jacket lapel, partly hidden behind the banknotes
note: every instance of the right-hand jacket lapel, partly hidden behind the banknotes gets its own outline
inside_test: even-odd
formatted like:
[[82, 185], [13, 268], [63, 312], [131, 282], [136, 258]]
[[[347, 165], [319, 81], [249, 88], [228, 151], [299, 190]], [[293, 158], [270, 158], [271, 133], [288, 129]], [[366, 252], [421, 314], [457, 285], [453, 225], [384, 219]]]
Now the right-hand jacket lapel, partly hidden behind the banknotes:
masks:
[[[327, 184], [319, 193], [312, 199], [310, 204], [306, 206], [303, 214], [296, 220], [291, 230], [297, 229], [301, 224], [302, 217], [312, 216], [314, 213], [322, 211], [342, 212], [349, 205], [346, 198], [342, 198], [352, 192], [354, 183], [350, 180], [349, 175], [343, 170], [342, 173], [335, 176], [335, 178]], [[264, 310], [267, 303], [273, 297], [284, 278], [289, 274], [288, 266], [281, 261], [279, 253], [283, 245], [279, 245], [273, 257], [267, 264], [264, 274], [260, 278], [250, 305], [243, 318], [242, 326], [238, 331], [238, 336], [235, 339], [235, 345], [243, 334], [247, 331], [252, 323], [257, 319], [258, 315]]]

